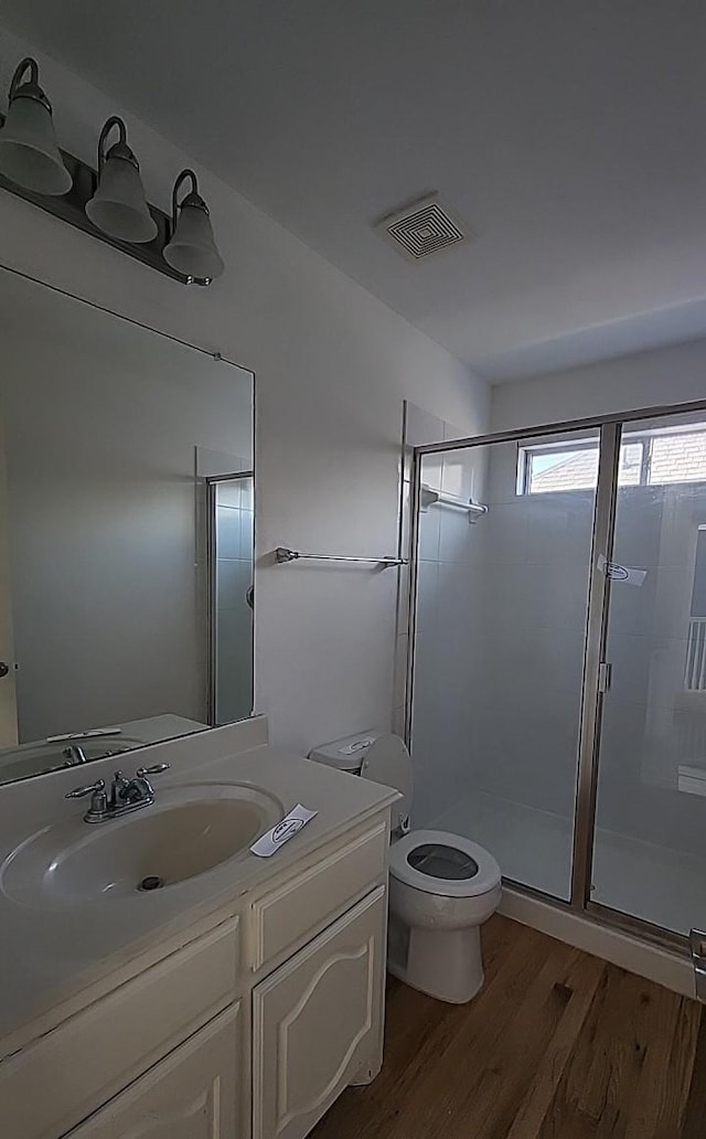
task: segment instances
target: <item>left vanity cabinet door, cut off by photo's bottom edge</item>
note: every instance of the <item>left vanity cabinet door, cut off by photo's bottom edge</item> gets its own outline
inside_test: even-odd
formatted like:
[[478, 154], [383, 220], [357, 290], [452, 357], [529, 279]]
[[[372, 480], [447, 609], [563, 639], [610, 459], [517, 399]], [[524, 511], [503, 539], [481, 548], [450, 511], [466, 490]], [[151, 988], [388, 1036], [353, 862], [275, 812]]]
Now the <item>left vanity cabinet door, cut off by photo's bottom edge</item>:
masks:
[[66, 1139], [238, 1139], [238, 1031], [233, 1006]]

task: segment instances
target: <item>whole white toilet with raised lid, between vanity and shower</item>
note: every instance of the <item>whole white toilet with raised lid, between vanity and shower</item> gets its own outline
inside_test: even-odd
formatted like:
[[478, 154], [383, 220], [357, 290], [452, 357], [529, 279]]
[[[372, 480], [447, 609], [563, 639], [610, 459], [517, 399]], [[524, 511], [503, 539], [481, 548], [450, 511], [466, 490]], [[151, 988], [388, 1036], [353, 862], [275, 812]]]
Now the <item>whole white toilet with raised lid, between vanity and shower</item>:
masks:
[[483, 985], [481, 926], [502, 892], [493, 855], [460, 835], [409, 829], [412, 761], [399, 736], [348, 736], [309, 759], [401, 793], [392, 808], [387, 968], [438, 1000], [470, 1000]]

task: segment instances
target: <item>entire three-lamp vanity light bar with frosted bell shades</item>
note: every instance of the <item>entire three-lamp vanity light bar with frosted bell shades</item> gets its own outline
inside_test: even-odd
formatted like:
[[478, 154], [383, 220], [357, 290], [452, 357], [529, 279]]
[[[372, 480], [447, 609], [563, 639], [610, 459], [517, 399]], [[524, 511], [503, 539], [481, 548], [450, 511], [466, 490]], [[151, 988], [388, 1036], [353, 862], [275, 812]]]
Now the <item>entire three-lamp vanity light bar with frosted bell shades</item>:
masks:
[[[114, 132], [117, 138], [110, 146]], [[190, 189], [180, 202], [186, 181]], [[28, 57], [13, 76], [7, 113], [0, 113], [0, 189], [180, 285], [210, 285], [223, 272], [194, 171], [183, 170], [176, 179], [167, 214], [146, 200], [140, 167], [117, 115], [100, 132], [98, 172], [59, 149], [51, 105], [39, 85], [39, 66]]]

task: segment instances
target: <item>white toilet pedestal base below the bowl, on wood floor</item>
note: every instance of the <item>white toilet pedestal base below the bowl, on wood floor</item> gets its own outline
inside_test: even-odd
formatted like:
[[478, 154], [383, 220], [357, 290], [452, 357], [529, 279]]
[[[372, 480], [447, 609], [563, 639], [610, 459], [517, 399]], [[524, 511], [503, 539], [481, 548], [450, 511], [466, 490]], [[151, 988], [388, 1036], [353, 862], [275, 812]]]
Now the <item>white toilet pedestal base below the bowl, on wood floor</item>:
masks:
[[465, 1005], [483, 986], [481, 928], [409, 929], [407, 964], [388, 959], [393, 976], [450, 1005]]

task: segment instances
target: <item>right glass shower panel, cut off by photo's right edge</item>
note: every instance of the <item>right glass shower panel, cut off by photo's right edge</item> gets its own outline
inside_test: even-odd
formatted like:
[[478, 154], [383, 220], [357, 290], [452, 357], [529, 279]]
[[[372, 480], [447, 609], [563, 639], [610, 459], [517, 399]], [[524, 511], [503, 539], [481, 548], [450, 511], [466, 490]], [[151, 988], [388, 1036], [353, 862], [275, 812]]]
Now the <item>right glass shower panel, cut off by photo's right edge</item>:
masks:
[[623, 425], [591, 901], [706, 923], [706, 417]]

